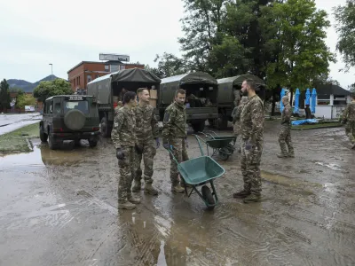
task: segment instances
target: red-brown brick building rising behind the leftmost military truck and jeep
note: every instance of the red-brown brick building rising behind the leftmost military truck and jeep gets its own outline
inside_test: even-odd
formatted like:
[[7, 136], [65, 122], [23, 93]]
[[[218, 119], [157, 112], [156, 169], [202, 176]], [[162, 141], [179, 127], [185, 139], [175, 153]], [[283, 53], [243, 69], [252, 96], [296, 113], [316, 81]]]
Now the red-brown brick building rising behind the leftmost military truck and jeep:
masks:
[[87, 84], [99, 76], [135, 67], [144, 68], [144, 65], [128, 64], [117, 61], [83, 61], [67, 72], [67, 80], [71, 83], [73, 90], [87, 90]]

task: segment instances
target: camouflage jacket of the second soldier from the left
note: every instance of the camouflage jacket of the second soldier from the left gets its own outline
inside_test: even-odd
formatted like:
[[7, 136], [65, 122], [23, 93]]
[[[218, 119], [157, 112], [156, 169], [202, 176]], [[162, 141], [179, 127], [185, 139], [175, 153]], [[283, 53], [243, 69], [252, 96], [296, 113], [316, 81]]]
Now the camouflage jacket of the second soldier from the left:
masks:
[[159, 137], [158, 120], [155, 117], [153, 106], [137, 106], [134, 108], [134, 113], [138, 141]]

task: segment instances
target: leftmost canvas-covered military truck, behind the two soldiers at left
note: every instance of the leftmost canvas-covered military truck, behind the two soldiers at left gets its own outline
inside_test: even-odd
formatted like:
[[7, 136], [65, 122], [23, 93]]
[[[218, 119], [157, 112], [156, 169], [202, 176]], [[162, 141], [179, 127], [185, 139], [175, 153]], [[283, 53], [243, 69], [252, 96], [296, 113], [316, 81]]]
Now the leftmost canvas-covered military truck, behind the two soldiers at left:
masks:
[[[136, 92], [148, 88], [159, 93], [161, 79], [145, 69], [124, 69], [106, 74], [88, 83], [87, 95], [98, 100], [100, 130], [103, 137], [109, 137], [114, 125], [114, 108], [122, 101], [125, 91]], [[153, 93], [152, 93], [153, 94]], [[158, 110], [156, 110], [158, 114]]]

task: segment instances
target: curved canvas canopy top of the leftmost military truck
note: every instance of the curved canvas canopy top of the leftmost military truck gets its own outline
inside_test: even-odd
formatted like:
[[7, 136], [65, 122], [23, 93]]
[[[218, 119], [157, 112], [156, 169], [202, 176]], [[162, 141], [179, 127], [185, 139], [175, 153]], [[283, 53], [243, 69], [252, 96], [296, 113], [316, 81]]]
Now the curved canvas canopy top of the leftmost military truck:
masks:
[[112, 82], [144, 82], [144, 83], [161, 82], [160, 78], [158, 78], [156, 75], [152, 74], [151, 72], [147, 71], [146, 69], [135, 67], [135, 68], [123, 69], [111, 74], [103, 75], [89, 82], [88, 85], [96, 82], [101, 82], [109, 78], [112, 79]]

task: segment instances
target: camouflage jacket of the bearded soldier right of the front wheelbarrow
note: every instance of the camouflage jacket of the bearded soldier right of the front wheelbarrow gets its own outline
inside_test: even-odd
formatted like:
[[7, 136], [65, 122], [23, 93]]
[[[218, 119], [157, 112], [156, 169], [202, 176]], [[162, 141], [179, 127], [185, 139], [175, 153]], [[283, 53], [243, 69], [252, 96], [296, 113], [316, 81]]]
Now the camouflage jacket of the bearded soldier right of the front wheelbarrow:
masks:
[[241, 137], [254, 144], [263, 140], [264, 103], [257, 95], [248, 99], [241, 111]]

